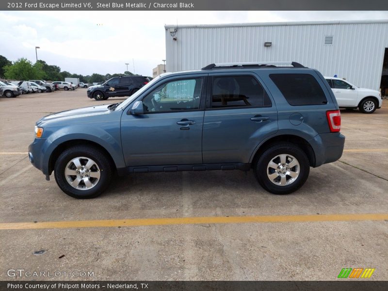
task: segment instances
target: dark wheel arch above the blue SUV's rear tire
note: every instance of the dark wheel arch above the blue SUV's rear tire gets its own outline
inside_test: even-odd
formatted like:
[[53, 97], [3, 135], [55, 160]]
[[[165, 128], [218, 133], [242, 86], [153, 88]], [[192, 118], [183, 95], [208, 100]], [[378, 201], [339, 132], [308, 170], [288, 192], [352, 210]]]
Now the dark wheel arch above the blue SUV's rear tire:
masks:
[[252, 166], [257, 162], [261, 153], [263, 153], [267, 148], [269, 148], [270, 146], [273, 146], [276, 143], [281, 143], [281, 142], [290, 142], [292, 144], [299, 146], [306, 153], [310, 166], [311, 167], [315, 166], [315, 162], [316, 162], [315, 153], [312, 146], [303, 137], [292, 135], [292, 134], [276, 135], [276, 136], [270, 137], [269, 139], [261, 143], [259, 147], [256, 149], [253, 155], [253, 158], [251, 158]]

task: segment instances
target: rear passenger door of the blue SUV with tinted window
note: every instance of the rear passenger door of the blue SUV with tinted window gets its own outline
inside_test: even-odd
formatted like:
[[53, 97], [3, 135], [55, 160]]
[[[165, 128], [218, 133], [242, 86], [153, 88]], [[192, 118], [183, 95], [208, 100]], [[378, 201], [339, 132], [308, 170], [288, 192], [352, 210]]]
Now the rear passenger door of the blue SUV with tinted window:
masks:
[[248, 163], [259, 143], [277, 131], [277, 110], [250, 72], [209, 74], [203, 162]]

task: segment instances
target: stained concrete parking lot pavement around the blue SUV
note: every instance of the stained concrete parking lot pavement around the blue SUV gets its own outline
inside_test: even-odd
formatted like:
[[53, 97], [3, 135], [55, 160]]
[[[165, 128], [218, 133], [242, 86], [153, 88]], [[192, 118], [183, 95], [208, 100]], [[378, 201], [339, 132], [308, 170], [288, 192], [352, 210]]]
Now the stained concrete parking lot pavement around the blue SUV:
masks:
[[32, 167], [40, 117], [122, 100], [81, 88], [0, 98], [0, 280], [336, 280], [342, 268], [388, 280], [388, 100], [341, 111], [342, 158], [290, 195], [265, 192], [252, 171], [209, 171], [133, 174], [77, 200]]

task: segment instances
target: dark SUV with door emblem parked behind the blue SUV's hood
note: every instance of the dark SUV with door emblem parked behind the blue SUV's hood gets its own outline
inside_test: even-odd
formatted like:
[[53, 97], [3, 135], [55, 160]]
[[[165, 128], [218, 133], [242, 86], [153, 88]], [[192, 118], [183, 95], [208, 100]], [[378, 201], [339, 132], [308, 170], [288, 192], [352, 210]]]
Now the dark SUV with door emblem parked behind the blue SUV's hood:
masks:
[[109, 97], [131, 96], [149, 82], [144, 76], [120, 76], [109, 79], [105, 83], [90, 86], [87, 91], [89, 98], [106, 100]]

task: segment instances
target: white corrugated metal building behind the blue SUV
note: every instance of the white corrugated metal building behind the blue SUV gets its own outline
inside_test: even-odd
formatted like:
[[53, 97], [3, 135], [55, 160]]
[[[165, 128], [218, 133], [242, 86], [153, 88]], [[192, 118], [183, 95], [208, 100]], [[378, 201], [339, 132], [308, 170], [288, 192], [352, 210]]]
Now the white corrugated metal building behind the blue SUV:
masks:
[[388, 71], [388, 20], [165, 25], [165, 33], [167, 72], [295, 61], [378, 90]]

